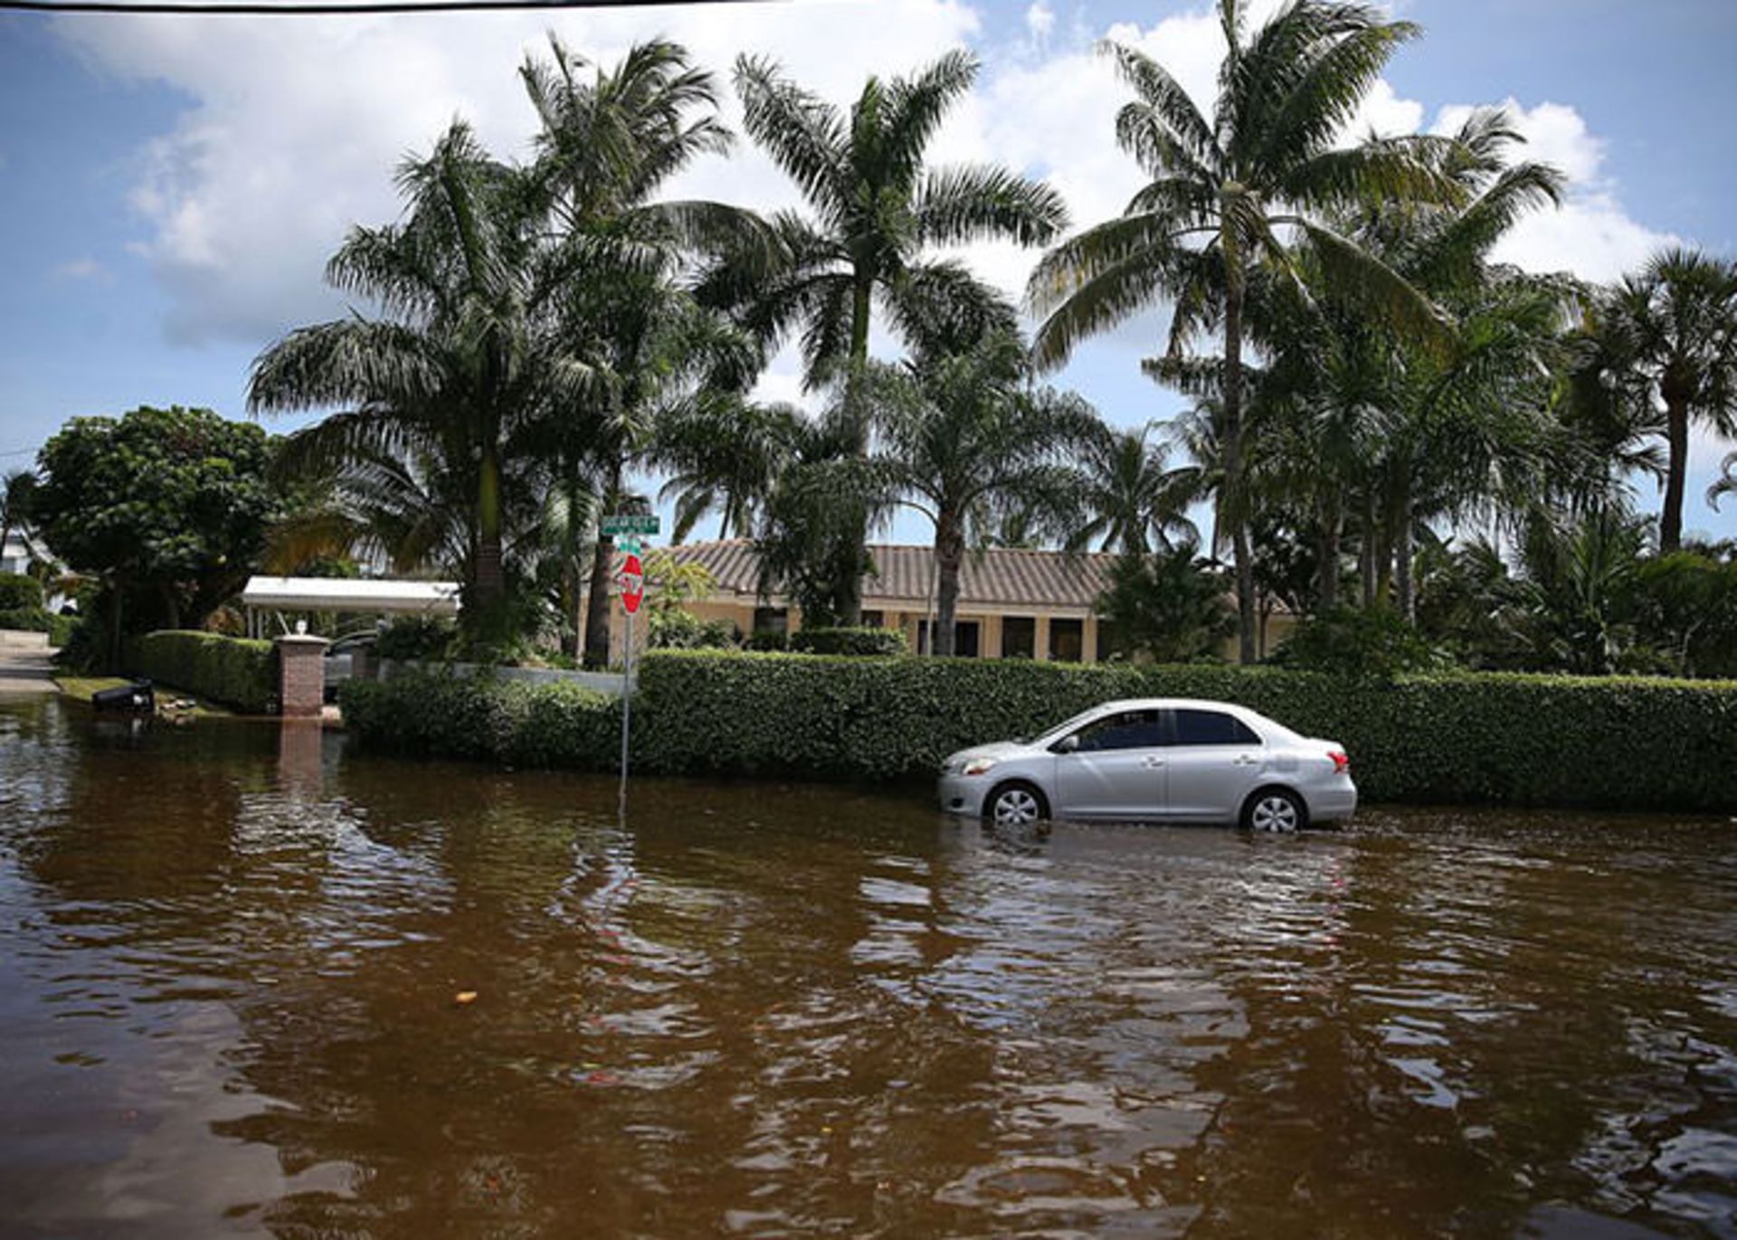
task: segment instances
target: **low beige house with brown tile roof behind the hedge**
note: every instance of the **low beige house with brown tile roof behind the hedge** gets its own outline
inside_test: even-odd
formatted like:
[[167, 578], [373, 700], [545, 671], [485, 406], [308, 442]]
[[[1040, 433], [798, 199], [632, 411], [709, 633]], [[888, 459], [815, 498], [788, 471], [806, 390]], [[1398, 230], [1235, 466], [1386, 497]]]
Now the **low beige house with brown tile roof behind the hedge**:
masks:
[[[714, 590], [688, 604], [702, 620], [726, 620], [743, 634], [792, 632], [801, 613], [776, 589], [759, 592], [759, 559], [745, 538], [662, 549], [677, 563], [710, 573]], [[863, 623], [898, 629], [914, 651], [929, 650], [935, 615], [935, 549], [870, 544], [875, 571], [863, 577]], [[966, 658], [1035, 658], [1098, 663], [1119, 653], [1115, 634], [1096, 613], [1115, 556], [990, 547], [966, 552], [959, 575], [955, 653]], [[1277, 643], [1289, 617], [1273, 617]], [[611, 650], [622, 648], [624, 618], [611, 608]], [[1235, 639], [1225, 646], [1235, 656]]]

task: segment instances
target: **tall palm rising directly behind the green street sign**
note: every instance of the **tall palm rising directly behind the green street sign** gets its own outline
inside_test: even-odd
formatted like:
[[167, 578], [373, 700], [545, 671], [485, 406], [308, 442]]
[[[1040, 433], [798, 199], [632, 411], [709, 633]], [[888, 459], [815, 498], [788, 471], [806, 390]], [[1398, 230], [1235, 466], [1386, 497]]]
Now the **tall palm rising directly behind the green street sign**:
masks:
[[[542, 122], [533, 170], [551, 205], [571, 273], [561, 299], [565, 339], [596, 370], [591, 399], [563, 410], [551, 452], [570, 478], [603, 502], [624, 493], [629, 464], [650, 446], [660, 408], [702, 377], [743, 389], [763, 354], [710, 316], [677, 283], [695, 254], [769, 245], [750, 212], [709, 201], [658, 201], [664, 184], [695, 158], [724, 153], [710, 73], [684, 49], [653, 40], [589, 78], [559, 42], [549, 63], [528, 59], [526, 94]], [[559, 434], [565, 431], [565, 434]], [[608, 660], [608, 577], [613, 540], [596, 537], [585, 623], [585, 662]]]

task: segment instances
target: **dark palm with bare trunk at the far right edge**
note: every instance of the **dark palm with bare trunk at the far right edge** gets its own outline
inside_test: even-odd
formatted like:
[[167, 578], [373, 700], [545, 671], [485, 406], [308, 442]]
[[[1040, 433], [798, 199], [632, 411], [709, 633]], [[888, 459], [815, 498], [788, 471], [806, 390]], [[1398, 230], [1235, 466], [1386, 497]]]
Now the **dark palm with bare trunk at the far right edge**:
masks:
[[1688, 429], [1737, 434], [1737, 262], [1699, 250], [1661, 250], [1624, 276], [1603, 307], [1624, 365], [1605, 375], [1615, 392], [1664, 408], [1666, 478], [1659, 551], [1683, 542]]

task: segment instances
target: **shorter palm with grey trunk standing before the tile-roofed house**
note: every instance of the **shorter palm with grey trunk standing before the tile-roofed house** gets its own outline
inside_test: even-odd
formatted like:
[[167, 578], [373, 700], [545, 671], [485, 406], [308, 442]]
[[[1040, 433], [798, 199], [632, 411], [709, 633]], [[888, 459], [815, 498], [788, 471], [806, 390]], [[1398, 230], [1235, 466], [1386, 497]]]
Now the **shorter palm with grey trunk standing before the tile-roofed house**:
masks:
[[1009, 511], [1056, 531], [1073, 524], [1084, 488], [1072, 460], [1105, 427], [1079, 396], [1030, 384], [1025, 342], [1013, 332], [919, 358], [874, 389], [870, 472], [888, 497], [935, 523], [935, 653], [947, 656], [966, 544], [988, 542]]

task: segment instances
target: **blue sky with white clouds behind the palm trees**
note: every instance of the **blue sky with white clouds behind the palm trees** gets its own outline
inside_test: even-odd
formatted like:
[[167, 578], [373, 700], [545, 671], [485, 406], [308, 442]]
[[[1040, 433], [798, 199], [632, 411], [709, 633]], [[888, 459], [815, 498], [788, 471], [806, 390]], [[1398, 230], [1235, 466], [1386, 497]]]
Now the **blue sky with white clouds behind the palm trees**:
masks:
[[[1687, 240], [1737, 254], [1737, 85], [1727, 0], [1405, 0], [1424, 36], [1391, 63], [1367, 120], [1428, 129], [1452, 108], [1511, 99], [1530, 155], [1574, 177], [1567, 210], [1529, 221], [1511, 259], [1605, 278]], [[615, 14], [389, 17], [0, 16], [0, 469], [28, 464], [68, 417], [141, 403], [243, 417], [252, 358], [299, 323], [342, 313], [320, 269], [347, 224], [394, 210], [391, 167], [464, 115], [502, 155], [530, 127], [514, 68], [542, 31], [608, 59], [669, 33], [709, 66], [768, 49], [792, 76], [848, 97], [971, 45], [980, 90], [941, 135], [945, 158], [994, 158], [1051, 177], [1075, 219], [1112, 214], [1136, 184], [1110, 141], [1122, 97], [1089, 52], [1141, 42], [1188, 82], [1216, 57], [1205, 3], [726, 5]], [[1204, 85], [1202, 85], [1204, 89]], [[1449, 109], [1449, 111], [1443, 111]], [[785, 205], [750, 149], [690, 174], [686, 193]], [[1009, 287], [1030, 255], [968, 254]], [[1139, 377], [1162, 320], [1086, 347], [1060, 382], [1113, 422], [1178, 401]], [[796, 392], [780, 358], [768, 394]], [[278, 420], [290, 429], [295, 420]], [[1687, 526], [1737, 535], [1737, 505], [1701, 491], [1725, 445], [1699, 441]], [[1643, 491], [1643, 502], [1654, 497]], [[896, 537], [924, 538], [902, 521]]]

